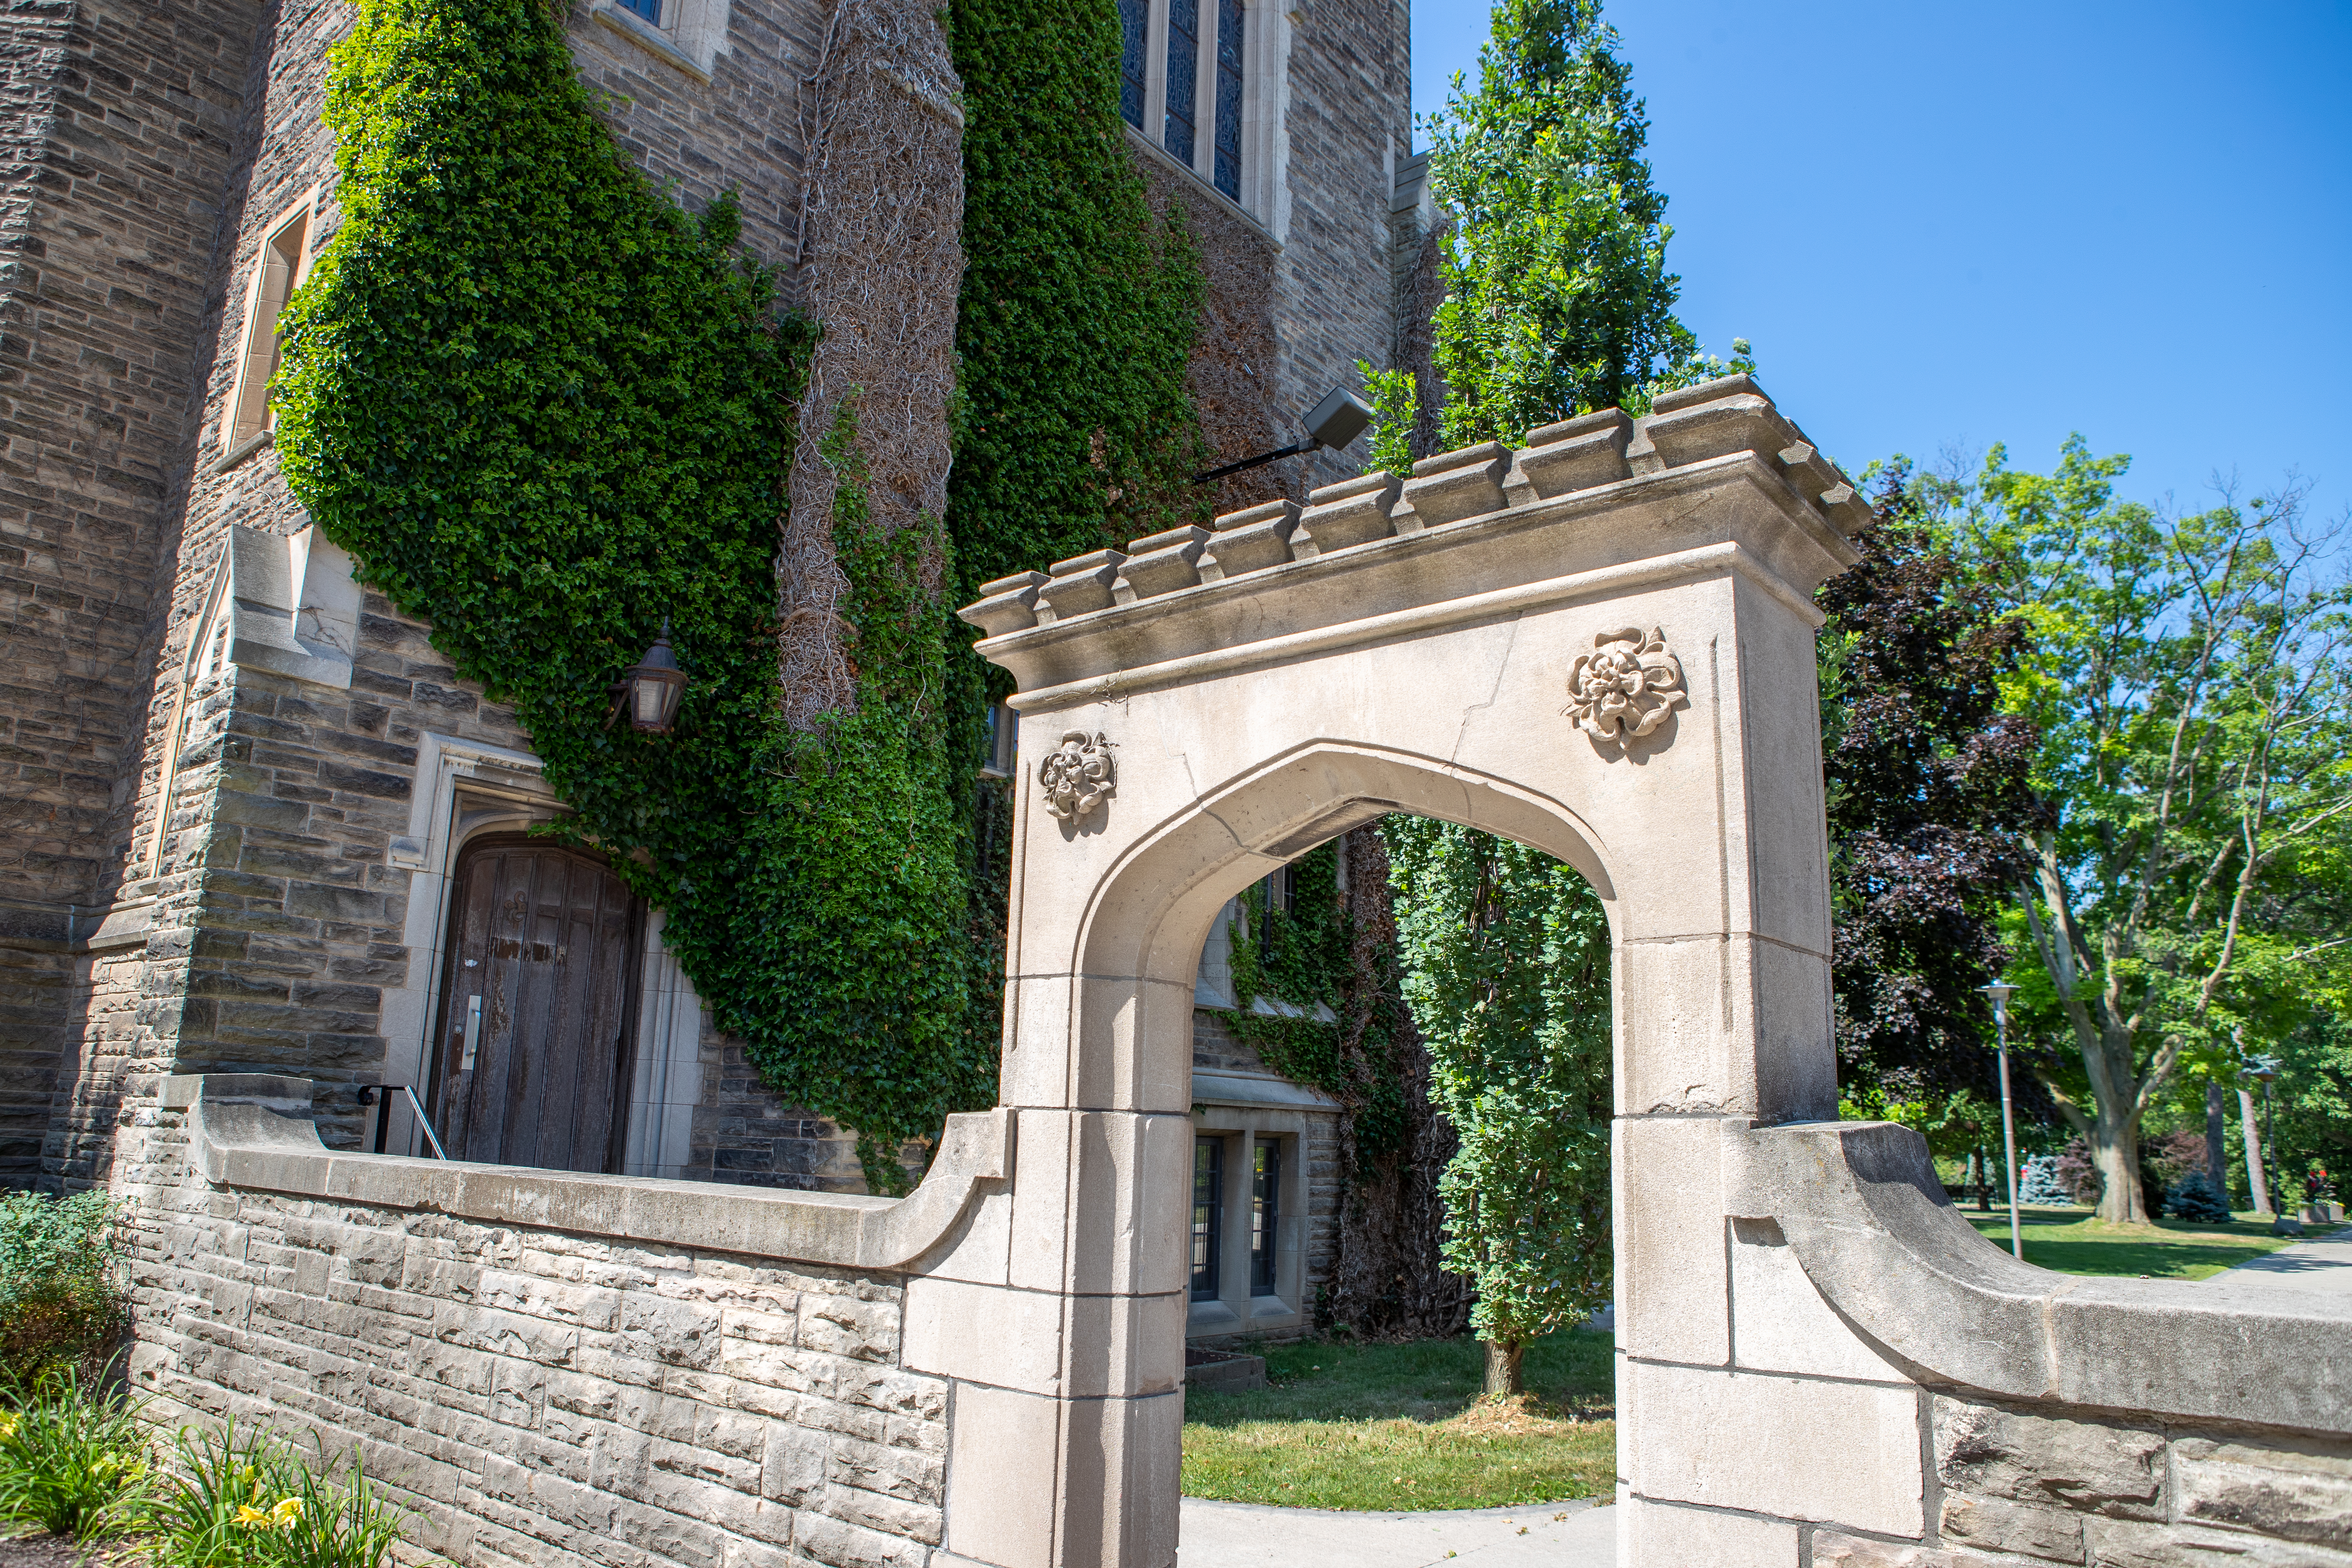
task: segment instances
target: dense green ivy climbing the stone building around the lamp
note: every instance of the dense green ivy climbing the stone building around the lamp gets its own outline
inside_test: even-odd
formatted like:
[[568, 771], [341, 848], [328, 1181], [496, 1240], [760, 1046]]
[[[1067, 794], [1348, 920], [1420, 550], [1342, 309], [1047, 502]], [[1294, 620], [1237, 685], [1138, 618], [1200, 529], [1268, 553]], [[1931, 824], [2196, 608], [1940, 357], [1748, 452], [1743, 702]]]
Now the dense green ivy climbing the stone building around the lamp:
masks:
[[[1112, 7], [950, 16], [981, 261], [946, 538], [903, 527], [896, 489], [873, 503], [863, 388], [800, 400], [811, 336], [847, 322], [776, 310], [731, 197], [687, 216], [642, 179], [529, 0], [360, 7], [329, 71], [343, 226], [278, 381], [313, 520], [515, 708], [717, 1025], [779, 1095], [858, 1128], [882, 1187], [901, 1140], [995, 1091], [1002, 811], [948, 609], [1202, 510], [1200, 280], [1120, 143]], [[811, 712], [783, 701], [802, 628], [776, 602], [795, 421], [826, 465], [847, 672]], [[691, 677], [677, 731], [607, 726], [663, 621]]]

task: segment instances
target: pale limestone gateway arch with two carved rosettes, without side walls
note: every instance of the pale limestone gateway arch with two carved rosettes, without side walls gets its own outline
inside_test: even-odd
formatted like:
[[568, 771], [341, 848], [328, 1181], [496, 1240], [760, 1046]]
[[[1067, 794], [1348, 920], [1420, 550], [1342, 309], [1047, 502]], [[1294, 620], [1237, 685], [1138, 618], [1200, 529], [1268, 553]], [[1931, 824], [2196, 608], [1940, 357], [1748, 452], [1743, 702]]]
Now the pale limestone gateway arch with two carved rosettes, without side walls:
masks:
[[[964, 611], [1021, 684], [1018, 1164], [1007, 1281], [953, 1286], [995, 1328], [934, 1368], [960, 1378], [950, 1552], [1169, 1561], [1192, 964], [1225, 898], [1388, 811], [1529, 842], [1602, 893], [1621, 1345], [1724, 1361], [1719, 1138], [1837, 1114], [1811, 595], [1863, 517], [1733, 378]], [[946, 1288], [910, 1286], [910, 1333]]]

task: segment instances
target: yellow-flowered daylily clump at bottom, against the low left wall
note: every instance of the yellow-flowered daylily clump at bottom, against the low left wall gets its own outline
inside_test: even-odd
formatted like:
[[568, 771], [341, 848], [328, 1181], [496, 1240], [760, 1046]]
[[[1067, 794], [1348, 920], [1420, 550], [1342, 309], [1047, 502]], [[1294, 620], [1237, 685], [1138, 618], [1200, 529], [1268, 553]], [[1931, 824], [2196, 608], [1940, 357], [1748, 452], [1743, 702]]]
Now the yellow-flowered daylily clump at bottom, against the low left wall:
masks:
[[353, 1450], [348, 1476], [275, 1432], [181, 1427], [176, 1465], [146, 1512], [155, 1568], [381, 1568], [402, 1516]]

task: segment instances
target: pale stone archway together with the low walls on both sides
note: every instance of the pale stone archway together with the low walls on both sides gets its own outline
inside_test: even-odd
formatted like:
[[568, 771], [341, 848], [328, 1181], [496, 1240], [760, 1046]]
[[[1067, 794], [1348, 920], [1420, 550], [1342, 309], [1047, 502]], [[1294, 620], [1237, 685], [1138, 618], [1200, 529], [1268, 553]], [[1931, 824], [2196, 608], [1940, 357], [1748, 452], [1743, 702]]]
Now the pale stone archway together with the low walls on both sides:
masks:
[[[583, 1450], [670, 1443], [668, 1481], [557, 1483], [536, 1439], [494, 1465], [445, 1434], [449, 1474], [397, 1483], [489, 1521], [459, 1561], [612, 1561], [567, 1530], [637, 1540], [649, 1507], [691, 1537], [663, 1561], [1169, 1568], [1202, 938], [1411, 811], [1609, 907], [1625, 1568], [2352, 1568], [2352, 1305], [2032, 1269], [1915, 1133], [1837, 1121], [1813, 590], [1865, 522], [1733, 376], [995, 583], [964, 618], [1018, 682], [1002, 1105], [915, 1197], [339, 1154], [296, 1079], [172, 1079], [134, 1180], [193, 1241], [148, 1246], [143, 1288], [219, 1326], [134, 1375], [355, 1432], [397, 1481], [278, 1326], [372, 1333], [374, 1279], [482, 1356], [485, 1420], [520, 1389], [583, 1410]], [[289, 1262], [240, 1286], [228, 1253]], [[612, 1300], [499, 1262], [501, 1331], [470, 1333], [449, 1269], [510, 1255], [588, 1258], [543, 1274]], [[680, 1474], [739, 1502], [696, 1523]]]

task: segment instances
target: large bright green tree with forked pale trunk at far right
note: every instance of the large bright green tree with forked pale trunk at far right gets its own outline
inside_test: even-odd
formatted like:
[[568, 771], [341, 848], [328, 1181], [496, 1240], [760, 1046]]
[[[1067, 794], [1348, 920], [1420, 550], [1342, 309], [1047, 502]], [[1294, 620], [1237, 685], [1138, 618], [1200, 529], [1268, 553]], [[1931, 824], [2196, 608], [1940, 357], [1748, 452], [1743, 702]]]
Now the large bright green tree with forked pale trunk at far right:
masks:
[[[2140, 1124], [2249, 1023], [2291, 1027], [2324, 973], [2352, 827], [2352, 621], [2288, 489], [2178, 515], [2114, 498], [2082, 437], [2049, 475], [1994, 447], [1936, 512], [2032, 623], [2011, 708], [2042, 731], [2016, 924], [2046, 1084], [2089, 1143], [2098, 1213], [2145, 1222]], [[2333, 872], [2331, 872], [2333, 867]], [[2310, 954], [2307, 954], [2310, 957]]]

